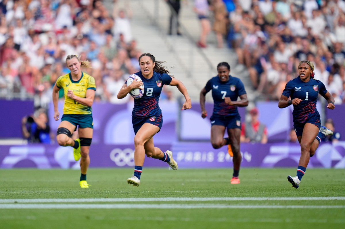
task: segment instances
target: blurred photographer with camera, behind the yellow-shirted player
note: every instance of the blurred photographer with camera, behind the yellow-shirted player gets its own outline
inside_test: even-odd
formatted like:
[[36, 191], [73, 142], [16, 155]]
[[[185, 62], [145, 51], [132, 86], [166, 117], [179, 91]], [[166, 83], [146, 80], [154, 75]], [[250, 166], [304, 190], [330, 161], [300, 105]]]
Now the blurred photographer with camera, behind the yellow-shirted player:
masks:
[[29, 143], [51, 143], [50, 127], [45, 109], [39, 109], [34, 114], [22, 118], [22, 133]]

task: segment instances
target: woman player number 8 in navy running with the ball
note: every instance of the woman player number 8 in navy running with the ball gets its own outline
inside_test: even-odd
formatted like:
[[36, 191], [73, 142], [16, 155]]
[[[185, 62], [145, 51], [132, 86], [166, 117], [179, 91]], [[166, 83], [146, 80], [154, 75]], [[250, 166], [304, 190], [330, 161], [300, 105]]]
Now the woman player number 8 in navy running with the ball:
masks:
[[140, 175], [142, 165], [144, 164], [145, 154], [147, 157], [153, 157], [167, 162], [173, 170], [177, 170], [177, 163], [172, 158], [172, 152], [167, 150], [165, 153], [154, 146], [153, 137], [162, 127], [162, 111], [158, 106], [158, 100], [163, 85], [176, 86], [183, 94], [186, 101], [182, 109], [190, 109], [191, 102], [186, 87], [183, 83], [174, 77], [168, 75], [169, 70], [156, 61], [156, 58], [150, 53], [144, 53], [139, 57], [140, 71], [135, 73], [140, 80], [133, 81], [127, 86], [125, 83], [119, 93], [118, 99], [125, 96], [132, 90], [140, 88], [144, 84], [144, 95], [134, 100], [132, 110], [132, 124], [135, 133], [134, 137], [134, 174], [127, 179], [128, 184], [134, 186], [140, 185]]

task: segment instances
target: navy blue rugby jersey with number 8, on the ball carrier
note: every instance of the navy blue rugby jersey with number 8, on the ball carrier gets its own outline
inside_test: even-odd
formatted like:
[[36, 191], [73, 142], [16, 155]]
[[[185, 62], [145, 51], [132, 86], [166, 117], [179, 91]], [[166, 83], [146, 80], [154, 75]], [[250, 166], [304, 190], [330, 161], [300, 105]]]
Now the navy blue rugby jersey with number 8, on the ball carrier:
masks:
[[165, 73], [153, 72], [150, 79], [145, 78], [141, 71], [135, 73], [144, 83], [144, 95], [140, 99], [134, 99], [132, 115], [143, 118], [153, 116], [160, 111], [158, 100], [162, 92], [163, 85], [169, 85], [171, 76]]

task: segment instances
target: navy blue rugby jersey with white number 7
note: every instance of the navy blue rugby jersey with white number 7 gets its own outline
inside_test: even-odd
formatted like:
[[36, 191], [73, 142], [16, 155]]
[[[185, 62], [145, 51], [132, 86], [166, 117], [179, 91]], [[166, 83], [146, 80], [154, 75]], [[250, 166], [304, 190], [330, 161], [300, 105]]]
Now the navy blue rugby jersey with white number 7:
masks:
[[237, 107], [226, 104], [224, 98], [230, 97], [231, 101], [237, 101], [238, 96], [247, 94], [242, 81], [233, 76], [229, 76], [229, 80], [227, 82], [221, 82], [218, 76], [212, 77], [207, 81], [205, 90], [206, 92], [212, 90], [214, 116], [237, 115]]

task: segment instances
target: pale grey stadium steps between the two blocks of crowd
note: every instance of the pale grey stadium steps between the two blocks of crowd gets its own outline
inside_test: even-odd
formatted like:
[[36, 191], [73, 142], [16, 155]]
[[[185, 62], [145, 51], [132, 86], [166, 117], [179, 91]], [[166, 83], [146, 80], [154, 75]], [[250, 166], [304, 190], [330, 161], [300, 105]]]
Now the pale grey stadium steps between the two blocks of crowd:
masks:
[[[109, 3], [110, 0], [106, 1]], [[126, 0], [118, 0], [119, 7], [125, 6]], [[111, 2], [110, 2], [111, 3]], [[200, 24], [193, 11], [193, 1], [181, 4], [180, 24], [182, 36], [167, 35], [170, 9], [164, 0], [131, 0], [133, 12], [131, 30], [138, 48], [142, 52], [153, 54], [158, 61], [166, 61], [165, 66], [172, 67], [171, 75], [181, 80], [187, 87], [192, 101], [199, 100], [200, 90], [208, 79], [217, 75], [217, 64], [228, 62], [231, 74], [243, 80], [248, 97], [252, 95], [250, 81], [246, 70], [236, 72], [236, 53], [227, 48], [217, 48], [216, 37], [213, 32], [208, 35], [208, 47], [199, 48]], [[112, 9], [109, 8], [109, 9]], [[178, 95], [178, 91], [174, 91]], [[207, 101], [212, 101], [211, 93], [207, 94]]]

